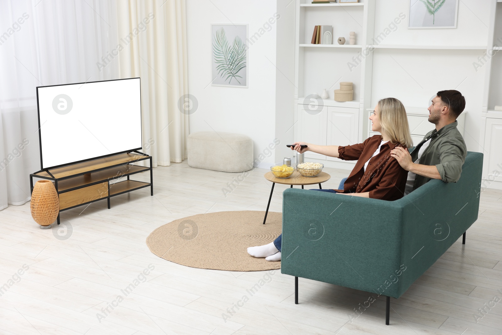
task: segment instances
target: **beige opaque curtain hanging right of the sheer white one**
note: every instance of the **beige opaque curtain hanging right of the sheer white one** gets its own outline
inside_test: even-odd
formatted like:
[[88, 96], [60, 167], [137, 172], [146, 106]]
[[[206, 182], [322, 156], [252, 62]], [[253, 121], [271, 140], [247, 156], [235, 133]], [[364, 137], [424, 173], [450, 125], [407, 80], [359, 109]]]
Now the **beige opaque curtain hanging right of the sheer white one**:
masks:
[[[154, 167], [187, 157], [185, 0], [117, 0], [120, 78], [141, 77], [143, 149]], [[115, 56], [116, 55], [116, 56]]]

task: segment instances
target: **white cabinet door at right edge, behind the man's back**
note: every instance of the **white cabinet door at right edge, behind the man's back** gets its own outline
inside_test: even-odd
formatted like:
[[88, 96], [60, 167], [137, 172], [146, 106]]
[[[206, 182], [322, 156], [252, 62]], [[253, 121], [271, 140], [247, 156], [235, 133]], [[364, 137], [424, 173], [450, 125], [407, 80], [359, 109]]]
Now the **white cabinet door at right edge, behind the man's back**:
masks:
[[484, 177], [488, 180], [502, 181], [502, 119], [486, 118], [484, 133]]

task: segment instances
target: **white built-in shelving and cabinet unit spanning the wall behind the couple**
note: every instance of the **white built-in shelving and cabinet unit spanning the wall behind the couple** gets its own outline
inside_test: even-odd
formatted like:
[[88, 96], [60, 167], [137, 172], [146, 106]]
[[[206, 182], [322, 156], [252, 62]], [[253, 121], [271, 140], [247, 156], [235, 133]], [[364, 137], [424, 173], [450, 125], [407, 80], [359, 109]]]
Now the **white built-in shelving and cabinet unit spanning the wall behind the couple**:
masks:
[[[465, 119], [468, 129], [464, 131], [459, 127], [459, 130], [469, 142], [469, 150], [476, 150], [473, 146], [479, 144], [477, 151], [484, 153], [483, 178], [493, 176], [490, 171], [496, 167], [494, 162], [502, 161], [499, 144], [493, 142], [493, 138], [502, 140], [502, 111], [494, 110], [495, 105], [502, 105], [502, 52], [498, 52], [502, 50], [499, 40], [501, 3], [502, 0], [479, 3], [480, 13], [484, 14], [479, 19], [482, 23], [472, 21], [470, 14], [459, 11], [456, 29], [415, 30], [408, 29], [409, 7], [401, 2], [360, 0], [350, 4], [311, 4], [308, 0], [295, 0], [295, 140], [346, 145], [345, 139], [350, 139], [360, 143], [370, 135], [367, 109], [373, 108], [380, 98], [395, 96], [408, 105], [424, 104], [423, 108], [407, 108], [413, 120], [422, 118], [424, 121], [428, 118], [428, 105], [425, 104], [429, 98], [425, 95], [432, 95], [438, 89], [454, 88], [465, 92], [466, 97], [469, 95], [466, 108], [469, 113], [464, 111], [461, 118]], [[392, 11], [388, 10], [389, 6], [394, 6]], [[390, 23], [401, 12], [406, 19], [401, 18], [400, 24], [396, 22], [397, 28], [385, 32], [386, 28], [392, 28]], [[333, 26], [332, 44], [310, 44], [315, 25]], [[488, 25], [487, 33], [480, 39], [480, 34], [486, 32], [485, 25]], [[356, 32], [355, 45], [348, 44], [349, 31]], [[381, 36], [383, 39], [378, 39]], [[346, 43], [338, 45], [338, 37], [344, 37]], [[369, 54], [361, 57], [368, 49]], [[491, 56], [483, 56], [484, 52]], [[446, 79], [444, 85], [438, 86], [431, 80], [430, 57], [441, 64], [434, 73]], [[472, 68], [475, 61], [481, 68]], [[347, 68], [349, 62], [356, 67]], [[484, 84], [483, 75], [486, 76]], [[333, 100], [333, 90], [339, 88], [340, 81], [353, 83], [353, 101]], [[320, 95], [323, 89], [327, 89], [329, 98], [323, 99], [317, 107], [316, 102], [313, 103], [315, 100], [305, 98], [313, 93]], [[316, 108], [314, 111], [305, 109], [309, 106]], [[426, 125], [429, 126], [424, 122], [423, 126]], [[346, 134], [338, 136], [330, 132]], [[479, 139], [474, 135], [477, 132]], [[418, 140], [419, 135], [422, 134], [415, 134], [414, 140]], [[331, 143], [334, 141], [340, 143]], [[350, 168], [336, 165], [327, 157], [315, 159], [325, 159], [323, 163], [329, 167]], [[489, 187], [502, 189], [502, 171], [499, 173], [495, 179], [499, 184], [491, 182]]]

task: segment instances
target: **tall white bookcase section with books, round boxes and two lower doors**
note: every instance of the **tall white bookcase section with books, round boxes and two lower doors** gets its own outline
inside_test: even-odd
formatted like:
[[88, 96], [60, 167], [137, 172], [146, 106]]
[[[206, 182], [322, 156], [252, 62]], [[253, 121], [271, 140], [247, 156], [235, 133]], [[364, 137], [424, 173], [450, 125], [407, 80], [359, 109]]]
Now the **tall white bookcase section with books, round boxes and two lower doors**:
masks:
[[[350, 71], [347, 62], [361, 53], [366, 42], [368, 11], [374, 1], [348, 4], [311, 4], [308, 0], [296, 3], [296, 54], [295, 54], [295, 113], [294, 139], [326, 145], [348, 145], [361, 141], [363, 134], [360, 119], [363, 114], [362, 96], [365, 89], [364, 64]], [[371, 14], [374, 15], [374, 14]], [[333, 27], [331, 44], [311, 44], [316, 25]], [[349, 32], [356, 33], [356, 44], [349, 44]], [[339, 37], [345, 44], [338, 44]], [[334, 90], [340, 81], [353, 83], [353, 100], [333, 100]], [[327, 99], [306, 99], [313, 93]], [[352, 162], [317, 155], [306, 158], [320, 160], [325, 166], [352, 169]]]

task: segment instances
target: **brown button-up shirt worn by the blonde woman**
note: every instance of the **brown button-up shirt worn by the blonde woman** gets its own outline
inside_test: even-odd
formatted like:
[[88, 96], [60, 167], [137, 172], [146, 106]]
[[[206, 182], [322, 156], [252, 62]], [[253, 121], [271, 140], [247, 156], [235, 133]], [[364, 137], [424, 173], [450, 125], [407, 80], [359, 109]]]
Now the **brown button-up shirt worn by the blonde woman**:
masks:
[[[357, 160], [354, 169], [343, 184], [343, 193], [369, 192], [370, 198], [383, 200], [397, 200], [404, 196], [408, 171], [399, 165], [391, 156], [391, 150], [401, 147], [400, 144], [385, 143], [380, 148], [380, 153], [371, 157], [382, 143], [381, 135], [374, 135], [359, 144], [338, 147], [340, 159]], [[366, 171], [364, 164], [368, 161]]]

